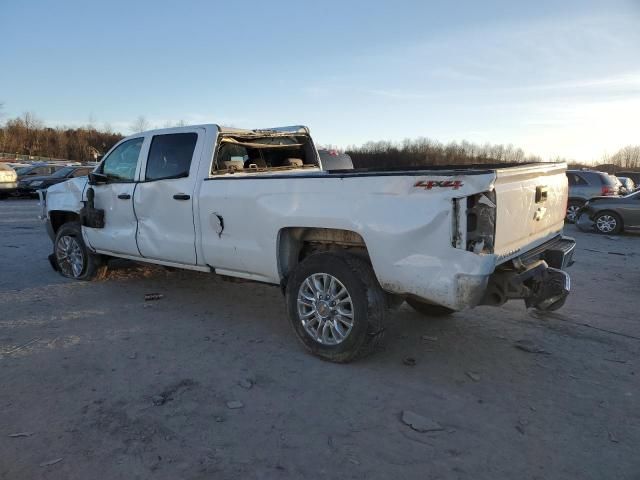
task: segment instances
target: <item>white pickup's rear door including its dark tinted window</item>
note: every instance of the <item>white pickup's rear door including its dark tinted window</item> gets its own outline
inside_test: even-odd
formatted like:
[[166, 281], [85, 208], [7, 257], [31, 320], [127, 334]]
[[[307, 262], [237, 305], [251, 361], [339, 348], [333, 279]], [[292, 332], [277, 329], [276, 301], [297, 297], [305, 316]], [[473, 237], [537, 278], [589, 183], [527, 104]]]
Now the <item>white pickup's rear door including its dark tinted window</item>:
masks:
[[193, 192], [204, 129], [176, 129], [151, 137], [142, 182], [134, 195], [142, 256], [195, 265]]

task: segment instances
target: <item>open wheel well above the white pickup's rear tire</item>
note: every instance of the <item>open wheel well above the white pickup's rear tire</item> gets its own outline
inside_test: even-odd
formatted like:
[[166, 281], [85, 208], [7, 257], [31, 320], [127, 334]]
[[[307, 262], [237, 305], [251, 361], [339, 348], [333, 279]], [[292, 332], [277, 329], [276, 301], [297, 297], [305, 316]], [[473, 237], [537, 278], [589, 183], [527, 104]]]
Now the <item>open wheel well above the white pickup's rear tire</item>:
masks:
[[364, 239], [350, 230], [334, 228], [288, 227], [278, 235], [278, 270], [286, 278], [298, 263], [316, 252], [349, 251], [369, 259]]

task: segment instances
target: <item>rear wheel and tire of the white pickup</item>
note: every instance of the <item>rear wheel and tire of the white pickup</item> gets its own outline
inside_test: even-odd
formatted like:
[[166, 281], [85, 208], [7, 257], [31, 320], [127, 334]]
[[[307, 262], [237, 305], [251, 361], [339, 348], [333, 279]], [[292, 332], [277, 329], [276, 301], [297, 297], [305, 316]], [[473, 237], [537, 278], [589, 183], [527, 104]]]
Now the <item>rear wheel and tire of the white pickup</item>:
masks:
[[[324, 300], [318, 298], [323, 293]], [[298, 340], [324, 360], [362, 358], [384, 337], [387, 299], [371, 265], [360, 257], [343, 252], [310, 255], [289, 276], [286, 302]]]

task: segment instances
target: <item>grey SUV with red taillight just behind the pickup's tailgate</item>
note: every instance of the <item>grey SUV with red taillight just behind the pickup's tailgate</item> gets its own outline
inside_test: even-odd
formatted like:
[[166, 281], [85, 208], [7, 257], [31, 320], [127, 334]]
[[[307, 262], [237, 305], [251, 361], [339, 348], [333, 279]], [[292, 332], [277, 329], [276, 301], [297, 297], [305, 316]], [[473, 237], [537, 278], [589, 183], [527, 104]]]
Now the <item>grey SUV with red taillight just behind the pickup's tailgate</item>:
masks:
[[594, 197], [618, 195], [618, 185], [610, 175], [597, 170], [567, 170], [569, 201], [566, 220], [576, 221], [578, 211]]

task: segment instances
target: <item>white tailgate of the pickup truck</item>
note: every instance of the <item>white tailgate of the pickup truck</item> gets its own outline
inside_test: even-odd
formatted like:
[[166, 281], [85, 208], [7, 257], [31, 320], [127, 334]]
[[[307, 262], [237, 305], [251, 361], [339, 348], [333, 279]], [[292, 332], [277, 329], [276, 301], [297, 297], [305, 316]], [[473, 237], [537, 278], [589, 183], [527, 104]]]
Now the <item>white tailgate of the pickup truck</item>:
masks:
[[560, 232], [567, 206], [565, 163], [496, 170], [494, 253], [509, 257]]

